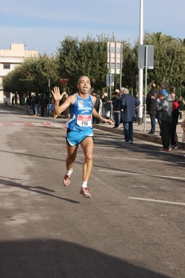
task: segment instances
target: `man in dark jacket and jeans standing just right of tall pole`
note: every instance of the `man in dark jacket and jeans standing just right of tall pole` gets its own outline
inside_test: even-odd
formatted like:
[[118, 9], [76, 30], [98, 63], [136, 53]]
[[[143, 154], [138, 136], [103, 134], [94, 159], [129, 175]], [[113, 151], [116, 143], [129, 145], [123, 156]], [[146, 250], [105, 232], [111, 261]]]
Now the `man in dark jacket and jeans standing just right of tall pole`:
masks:
[[156, 84], [151, 85], [151, 90], [147, 93], [146, 105], [147, 105], [147, 113], [150, 115], [151, 121], [151, 130], [148, 134], [154, 134], [156, 129], [156, 118], [159, 123], [161, 123], [160, 114], [156, 111], [156, 98], [158, 97], [159, 91], [156, 89]]

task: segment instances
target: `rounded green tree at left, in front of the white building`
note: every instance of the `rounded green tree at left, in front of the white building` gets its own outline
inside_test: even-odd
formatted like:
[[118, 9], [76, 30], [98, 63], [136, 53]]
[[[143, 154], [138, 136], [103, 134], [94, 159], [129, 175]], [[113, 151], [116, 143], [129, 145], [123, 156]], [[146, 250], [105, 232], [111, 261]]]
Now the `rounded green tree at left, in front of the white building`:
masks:
[[20, 97], [31, 92], [48, 94], [48, 80], [53, 86], [61, 86], [58, 76], [58, 60], [55, 56], [44, 54], [38, 58], [27, 58], [3, 77], [6, 91], [17, 92]]

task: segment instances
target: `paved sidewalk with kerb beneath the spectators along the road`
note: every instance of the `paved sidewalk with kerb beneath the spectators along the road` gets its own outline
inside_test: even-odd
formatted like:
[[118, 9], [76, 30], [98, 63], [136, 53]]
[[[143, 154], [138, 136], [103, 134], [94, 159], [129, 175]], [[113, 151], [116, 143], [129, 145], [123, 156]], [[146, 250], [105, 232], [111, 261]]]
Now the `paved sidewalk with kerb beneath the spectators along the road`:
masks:
[[[13, 109], [22, 109], [25, 111], [25, 105], [8, 105], [8, 107]], [[42, 117], [40, 117], [40, 119], [42, 119]], [[64, 121], [65, 119], [58, 118], [57, 120]], [[177, 124], [177, 136], [179, 139], [179, 148], [185, 149], [185, 142], [182, 142], [182, 133], [183, 133], [183, 130], [181, 128], [182, 121], [184, 121], [184, 118], [182, 118], [182, 120], [179, 120], [179, 123]], [[144, 121], [141, 125], [138, 125], [138, 123], [134, 123], [133, 126], [134, 126], [135, 138], [151, 141], [157, 144], [162, 144], [161, 137], [159, 136], [159, 124], [157, 123], [157, 121], [156, 121], [155, 134], [147, 134], [147, 132], [150, 132], [151, 129], [150, 117], [148, 115], [146, 116], [146, 125], [145, 125], [145, 118], [144, 118]], [[122, 124], [120, 124], [119, 128], [113, 128], [113, 125], [109, 125], [107, 123], [99, 123], [99, 124], [93, 123], [93, 128], [123, 135]]]

